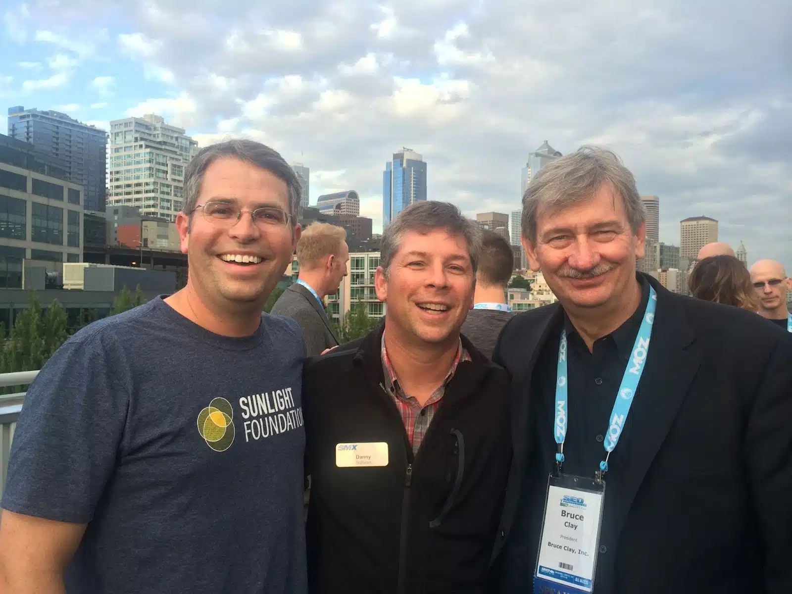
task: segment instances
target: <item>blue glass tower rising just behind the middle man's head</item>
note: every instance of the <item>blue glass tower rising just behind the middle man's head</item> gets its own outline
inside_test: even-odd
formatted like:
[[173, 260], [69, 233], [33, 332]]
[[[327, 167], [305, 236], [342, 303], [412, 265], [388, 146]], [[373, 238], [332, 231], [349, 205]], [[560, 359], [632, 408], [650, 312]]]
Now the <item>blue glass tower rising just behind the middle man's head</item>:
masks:
[[426, 163], [414, 150], [402, 148], [383, 172], [383, 229], [418, 200], [426, 200]]

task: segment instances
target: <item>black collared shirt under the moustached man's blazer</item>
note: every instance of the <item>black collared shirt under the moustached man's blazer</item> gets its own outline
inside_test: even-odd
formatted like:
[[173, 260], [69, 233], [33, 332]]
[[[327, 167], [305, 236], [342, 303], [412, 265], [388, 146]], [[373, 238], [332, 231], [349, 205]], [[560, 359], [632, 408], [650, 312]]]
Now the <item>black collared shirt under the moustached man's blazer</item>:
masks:
[[[638, 276], [641, 283], [642, 299], [635, 310], [619, 328], [607, 336], [594, 342], [592, 351], [588, 350], [580, 334], [564, 314], [563, 326], [568, 341], [567, 375], [568, 388], [568, 421], [566, 440], [564, 443], [565, 462], [562, 467], [564, 474], [594, 477], [600, 468], [600, 461], [605, 457], [604, 436], [609, 425], [611, 410], [616, 394], [622, 383], [630, 354], [641, 327], [646, 305], [649, 303], [649, 283]], [[529, 464], [529, 480], [531, 485], [531, 505], [529, 513], [534, 515], [529, 520], [531, 541], [535, 544], [531, 550], [533, 555], [530, 563], [535, 565], [539, 532], [542, 527], [542, 513], [546, 493], [546, 477], [555, 467], [556, 444], [554, 440], [554, 402], [555, 384], [558, 369], [558, 343], [561, 340], [561, 328], [554, 330], [553, 337], [547, 341], [535, 367], [531, 391], [536, 421], [536, 433], [539, 436], [539, 447], [533, 448], [534, 459]], [[641, 389], [634, 398], [640, 398]], [[622, 497], [622, 484], [625, 469], [630, 465], [630, 434], [632, 419], [628, 415], [619, 444], [611, 452], [608, 459], [608, 472], [605, 477], [605, 506], [602, 529], [600, 533], [600, 555], [597, 563], [595, 592], [609, 592], [612, 586], [614, 543], [612, 523], [608, 520], [612, 510], [619, 508]], [[532, 565], [532, 567], [533, 567]]]

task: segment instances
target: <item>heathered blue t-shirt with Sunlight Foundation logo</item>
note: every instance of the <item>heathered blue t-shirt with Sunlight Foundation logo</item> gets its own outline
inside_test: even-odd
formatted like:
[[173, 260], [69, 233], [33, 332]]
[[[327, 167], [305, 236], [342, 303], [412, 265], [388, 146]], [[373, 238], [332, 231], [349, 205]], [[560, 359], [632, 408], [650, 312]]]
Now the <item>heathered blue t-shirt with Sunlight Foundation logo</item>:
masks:
[[154, 299], [95, 322], [25, 398], [3, 508], [87, 523], [69, 594], [306, 592], [305, 345], [221, 337]]

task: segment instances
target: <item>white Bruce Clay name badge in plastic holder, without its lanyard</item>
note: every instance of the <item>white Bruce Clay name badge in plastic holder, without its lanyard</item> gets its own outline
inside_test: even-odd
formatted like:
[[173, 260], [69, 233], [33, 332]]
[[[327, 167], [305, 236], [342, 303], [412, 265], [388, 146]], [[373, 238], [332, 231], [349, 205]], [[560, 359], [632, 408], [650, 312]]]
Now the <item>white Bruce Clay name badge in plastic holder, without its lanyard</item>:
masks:
[[604, 495], [604, 481], [550, 476], [534, 592], [593, 592]]

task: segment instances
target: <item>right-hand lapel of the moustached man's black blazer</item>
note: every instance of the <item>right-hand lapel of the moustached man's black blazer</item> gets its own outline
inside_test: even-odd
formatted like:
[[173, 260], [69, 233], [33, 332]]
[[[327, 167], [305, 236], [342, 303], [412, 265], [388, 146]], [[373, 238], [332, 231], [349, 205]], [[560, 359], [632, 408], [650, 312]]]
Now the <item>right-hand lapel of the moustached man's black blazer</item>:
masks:
[[630, 462], [623, 481], [624, 505], [614, 511], [617, 539], [635, 495], [668, 435], [701, 363], [701, 352], [695, 343], [682, 299], [653, 278], [649, 278], [649, 283], [657, 291], [657, 312], [646, 367], [630, 407], [630, 443], [619, 444], [619, 447], [630, 448]]

